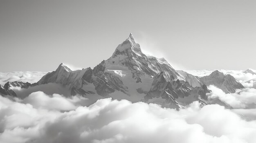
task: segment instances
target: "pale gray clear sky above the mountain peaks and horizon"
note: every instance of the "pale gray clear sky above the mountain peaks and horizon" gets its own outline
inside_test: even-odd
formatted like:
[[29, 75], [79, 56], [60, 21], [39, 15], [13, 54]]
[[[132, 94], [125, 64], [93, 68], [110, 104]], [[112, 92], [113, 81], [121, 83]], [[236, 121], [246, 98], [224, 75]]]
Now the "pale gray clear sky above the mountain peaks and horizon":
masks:
[[0, 72], [94, 67], [133, 33], [178, 69], [256, 69], [256, 0], [0, 0]]

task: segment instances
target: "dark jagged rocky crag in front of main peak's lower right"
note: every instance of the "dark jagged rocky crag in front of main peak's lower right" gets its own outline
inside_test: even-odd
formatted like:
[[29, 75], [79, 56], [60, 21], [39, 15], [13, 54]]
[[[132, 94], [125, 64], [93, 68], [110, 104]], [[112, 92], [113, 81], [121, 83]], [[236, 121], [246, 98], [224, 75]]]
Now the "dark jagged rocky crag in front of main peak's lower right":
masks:
[[207, 104], [208, 92], [210, 91], [205, 85], [193, 88], [187, 81], [173, 80], [167, 72], [160, 72], [154, 77], [152, 87], [144, 97], [144, 101], [155, 103], [161, 99], [162, 106], [179, 109], [182, 105], [196, 100]]

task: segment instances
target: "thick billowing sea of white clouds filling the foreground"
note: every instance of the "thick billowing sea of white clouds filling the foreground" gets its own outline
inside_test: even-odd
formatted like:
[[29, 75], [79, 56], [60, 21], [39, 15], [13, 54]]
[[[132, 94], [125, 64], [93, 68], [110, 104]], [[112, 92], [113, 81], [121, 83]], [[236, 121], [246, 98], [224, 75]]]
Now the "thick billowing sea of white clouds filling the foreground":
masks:
[[[41, 101], [41, 102], [40, 102]], [[43, 103], [42, 103], [43, 102]], [[0, 96], [1, 143], [255, 143], [256, 121], [197, 101], [180, 111], [157, 104], [34, 92]], [[64, 111], [65, 110], [65, 111]]]

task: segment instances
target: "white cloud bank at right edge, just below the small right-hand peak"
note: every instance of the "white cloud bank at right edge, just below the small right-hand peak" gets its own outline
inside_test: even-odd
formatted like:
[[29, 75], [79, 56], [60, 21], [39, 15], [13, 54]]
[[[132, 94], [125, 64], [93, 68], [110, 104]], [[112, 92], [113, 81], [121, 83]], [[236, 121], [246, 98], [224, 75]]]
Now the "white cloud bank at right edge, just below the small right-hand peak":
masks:
[[220, 88], [213, 85], [208, 87], [211, 90], [208, 98], [218, 98], [225, 103], [228, 103], [233, 108], [255, 108], [256, 107], [256, 89], [245, 88], [238, 93], [226, 94]]

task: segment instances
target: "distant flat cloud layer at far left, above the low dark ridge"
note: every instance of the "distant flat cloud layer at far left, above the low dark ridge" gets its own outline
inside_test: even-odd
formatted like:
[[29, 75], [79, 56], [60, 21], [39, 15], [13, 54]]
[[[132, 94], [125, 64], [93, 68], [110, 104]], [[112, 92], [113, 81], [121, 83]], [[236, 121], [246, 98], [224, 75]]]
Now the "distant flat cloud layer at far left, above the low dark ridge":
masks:
[[47, 72], [0, 72], [0, 84], [3, 86], [5, 83], [13, 81], [29, 82], [31, 84], [39, 81]]

